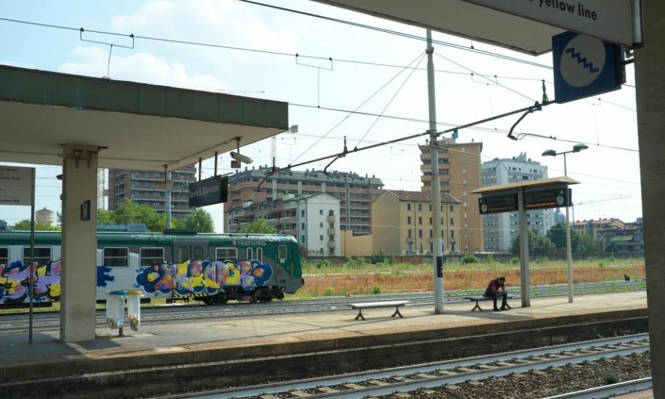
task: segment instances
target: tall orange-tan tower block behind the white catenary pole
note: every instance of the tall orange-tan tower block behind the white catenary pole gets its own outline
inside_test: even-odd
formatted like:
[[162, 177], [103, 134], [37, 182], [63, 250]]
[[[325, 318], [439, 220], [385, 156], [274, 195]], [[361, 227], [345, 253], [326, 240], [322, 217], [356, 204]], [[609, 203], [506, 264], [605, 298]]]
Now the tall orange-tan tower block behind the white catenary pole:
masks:
[[[455, 250], [459, 252], [484, 251], [483, 220], [478, 209], [478, 195], [471, 194], [481, 187], [480, 154], [483, 143], [456, 143], [455, 139], [442, 139], [438, 150], [438, 172], [441, 193], [459, 199], [461, 231]], [[429, 143], [420, 145], [420, 161], [423, 164], [423, 192], [432, 190], [432, 159]]]

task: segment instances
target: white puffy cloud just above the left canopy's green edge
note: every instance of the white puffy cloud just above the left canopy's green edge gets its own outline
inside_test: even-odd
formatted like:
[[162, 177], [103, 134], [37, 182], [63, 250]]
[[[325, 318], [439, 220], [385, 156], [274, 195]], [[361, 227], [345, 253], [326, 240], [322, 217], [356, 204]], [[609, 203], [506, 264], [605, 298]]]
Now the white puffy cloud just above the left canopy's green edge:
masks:
[[[78, 60], [65, 62], [57, 70], [85, 76], [106, 76], [108, 53], [102, 48], [76, 46], [71, 52], [71, 57]], [[180, 62], [168, 62], [151, 53], [143, 52], [126, 56], [112, 55], [109, 72], [110, 77], [116, 80], [132, 80], [185, 89], [220, 91], [230, 87], [220, 78], [206, 73], [188, 73]]]

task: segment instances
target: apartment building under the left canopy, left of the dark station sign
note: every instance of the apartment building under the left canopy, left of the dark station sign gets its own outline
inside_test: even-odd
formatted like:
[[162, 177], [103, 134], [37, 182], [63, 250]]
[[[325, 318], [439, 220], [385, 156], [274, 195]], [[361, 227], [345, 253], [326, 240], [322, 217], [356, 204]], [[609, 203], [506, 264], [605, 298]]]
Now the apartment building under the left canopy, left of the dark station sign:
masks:
[[[166, 212], [164, 172], [145, 170], [109, 169], [109, 209], [115, 210], [121, 202], [132, 199], [136, 204], [148, 205], [160, 213]], [[189, 183], [196, 181], [196, 169], [187, 166], [171, 172], [171, 215], [181, 218], [194, 211], [189, 207]]]

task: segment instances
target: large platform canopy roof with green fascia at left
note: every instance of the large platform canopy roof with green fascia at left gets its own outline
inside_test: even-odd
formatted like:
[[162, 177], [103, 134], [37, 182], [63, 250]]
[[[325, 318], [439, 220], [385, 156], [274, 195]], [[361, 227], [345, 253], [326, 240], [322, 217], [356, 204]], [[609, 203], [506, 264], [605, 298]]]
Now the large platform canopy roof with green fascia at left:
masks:
[[288, 125], [278, 101], [0, 65], [0, 161], [62, 165], [81, 144], [100, 168], [176, 170]]

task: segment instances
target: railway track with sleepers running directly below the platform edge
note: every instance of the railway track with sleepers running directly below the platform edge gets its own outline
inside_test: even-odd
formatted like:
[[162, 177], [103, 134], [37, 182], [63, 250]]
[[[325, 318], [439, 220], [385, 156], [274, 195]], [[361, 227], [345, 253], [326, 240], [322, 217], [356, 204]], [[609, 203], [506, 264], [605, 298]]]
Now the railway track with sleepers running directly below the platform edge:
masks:
[[[290, 382], [218, 389], [204, 393], [161, 396], [159, 399], [230, 399], [230, 398], [339, 398], [356, 399], [400, 392], [432, 389], [469, 380], [498, 378], [513, 373], [526, 373], [592, 362], [601, 358], [628, 356], [649, 350], [647, 334], [630, 335], [595, 341], [562, 344], [544, 348], [501, 353], [460, 360], [447, 360], [401, 366], [380, 371], [364, 371], [311, 378]], [[628, 387], [628, 385], [626, 385]], [[579, 398], [599, 398], [580, 396]], [[559, 397], [556, 397], [559, 398]], [[561, 398], [577, 398], [561, 396]]]

